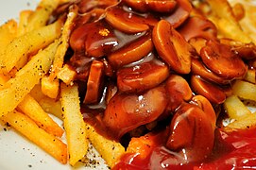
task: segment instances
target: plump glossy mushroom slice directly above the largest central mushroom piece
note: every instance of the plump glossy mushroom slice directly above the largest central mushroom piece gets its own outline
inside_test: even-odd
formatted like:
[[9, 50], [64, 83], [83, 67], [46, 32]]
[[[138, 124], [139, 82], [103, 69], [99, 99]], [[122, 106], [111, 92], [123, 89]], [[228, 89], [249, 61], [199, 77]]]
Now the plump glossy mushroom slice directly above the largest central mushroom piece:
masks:
[[125, 93], [141, 93], [158, 86], [169, 76], [168, 67], [159, 60], [125, 67], [117, 72], [117, 86]]

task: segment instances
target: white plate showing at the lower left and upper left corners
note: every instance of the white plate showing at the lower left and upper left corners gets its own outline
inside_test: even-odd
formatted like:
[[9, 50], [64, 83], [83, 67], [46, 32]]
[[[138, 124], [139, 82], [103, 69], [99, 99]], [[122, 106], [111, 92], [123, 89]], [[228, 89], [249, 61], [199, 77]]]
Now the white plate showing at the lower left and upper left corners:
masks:
[[[11, 18], [18, 19], [19, 12], [22, 9], [34, 9], [38, 2], [39, 0], [1, 0], [0, 25]], [[63, 165], [45, 153], [40, 147], [27, 141], [26, 138], [19, 135], [16, 131], [12, 129], [6, 131], [4, 128], [0, 125], [0, 170], [108, 169], [104, 161], [98, 156], [94, 158], [94, 162], [98, 163], [93, 166], [79, 164], [78, 167], [74, 168], [68, 164]], [[94, 153], [89, 156], [94, 157]]]

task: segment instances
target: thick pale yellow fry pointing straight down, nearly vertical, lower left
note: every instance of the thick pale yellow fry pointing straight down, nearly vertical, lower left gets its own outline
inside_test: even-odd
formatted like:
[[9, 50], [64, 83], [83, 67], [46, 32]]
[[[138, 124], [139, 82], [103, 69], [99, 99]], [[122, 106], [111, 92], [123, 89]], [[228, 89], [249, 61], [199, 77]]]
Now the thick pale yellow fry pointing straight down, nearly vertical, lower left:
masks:
[[85, 123], [80, 112], [77, 85], [60, 84], [60, 103], [66, 130], [69, 163], [74, 166], [87, 154], [89, 144], [86, 139]]

